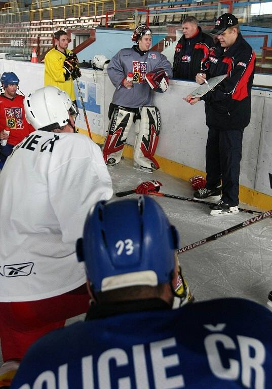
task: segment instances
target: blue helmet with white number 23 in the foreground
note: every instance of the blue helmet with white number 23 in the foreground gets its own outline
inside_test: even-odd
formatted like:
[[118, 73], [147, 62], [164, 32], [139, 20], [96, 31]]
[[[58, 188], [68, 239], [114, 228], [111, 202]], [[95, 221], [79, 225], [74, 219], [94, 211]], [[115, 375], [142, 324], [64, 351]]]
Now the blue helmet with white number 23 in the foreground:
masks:
[[98, 292], [135, 285], [169, 283], [179, 237], [160, 205], [147, 196], [100, 201], [88, 214], [79, 261]]

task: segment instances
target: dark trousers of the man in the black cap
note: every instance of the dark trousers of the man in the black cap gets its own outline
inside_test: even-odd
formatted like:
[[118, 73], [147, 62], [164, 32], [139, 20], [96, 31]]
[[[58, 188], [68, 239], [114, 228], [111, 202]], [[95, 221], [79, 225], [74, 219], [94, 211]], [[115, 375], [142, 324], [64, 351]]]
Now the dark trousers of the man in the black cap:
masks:
[[231, 206], [239, 204], [239, 175], [244, 129], [222, 130], [210, 127], [206, 145], [206, 173], [208, 189], [222, 180], [222, 198]]

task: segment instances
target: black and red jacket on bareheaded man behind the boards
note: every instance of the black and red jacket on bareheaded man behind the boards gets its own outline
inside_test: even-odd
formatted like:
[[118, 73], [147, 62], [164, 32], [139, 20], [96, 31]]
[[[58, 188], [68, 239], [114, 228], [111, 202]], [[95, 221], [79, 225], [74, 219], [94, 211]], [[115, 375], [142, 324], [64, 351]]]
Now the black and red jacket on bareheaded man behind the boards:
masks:
[[175, 49], [173, 77], [183, 80], [196, 80], [202, 70], [202, 63], [207, 60], [210, 48], [214, 46], [213, 38], [199, 27], [197, 35], [190, 39], [181, 36]]

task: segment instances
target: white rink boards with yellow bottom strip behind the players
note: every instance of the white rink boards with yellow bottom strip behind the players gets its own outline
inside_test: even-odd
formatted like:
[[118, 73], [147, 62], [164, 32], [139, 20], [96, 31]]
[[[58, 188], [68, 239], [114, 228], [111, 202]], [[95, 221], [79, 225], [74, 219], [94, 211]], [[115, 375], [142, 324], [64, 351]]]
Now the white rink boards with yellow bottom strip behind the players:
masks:
[[[20, 79], [20, 90], [29, 94], [44, 85], [44, 65], [0, 59], [0, 73], [14, 71]], [[166, 93], [154, 93], [153, 101], [159, 107], [162, 130], [157, 155], [163, 170], [188, 179], [193, 172], [205, 172], [204, 103], [193, 106], [182, 97], [196, 89], [193, 82], [171, 80]], [[103, 141], [108, 126], [107, 111], [112, 98], [112, 86], [106, 71], [82, 69], [80, 79], [85, 108], [91, 131], [96, 141]], [[77, 91], [76, 83], [75, 90]], [[87, 127], [77, 97], [80, 116], [76, 126], [87, 135]], [[41, 107], [43, 109], [43, 107]], [[241, 200], [264, 209], [272, 208], [272, 91], [252, 90], [252, 116], [245, 129], [241, 165]], [[134, 143], [130, 131], [128, 144]], [[163, 163], [161, 163], [163, 161]], [[169, 168], [171, 166], [171, 168]], [[165, 169], [164, 169], [165, 167]]]

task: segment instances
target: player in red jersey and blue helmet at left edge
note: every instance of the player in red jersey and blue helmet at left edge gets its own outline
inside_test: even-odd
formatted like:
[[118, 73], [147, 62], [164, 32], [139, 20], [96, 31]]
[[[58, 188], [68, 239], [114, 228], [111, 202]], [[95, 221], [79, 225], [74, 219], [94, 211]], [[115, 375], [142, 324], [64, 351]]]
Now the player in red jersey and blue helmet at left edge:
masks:
[[0, 96], [0, 170], [13, 147], [34, 131], [26, 121], [24, 97], [17, 94], [19, 79], [15, 73], [4, 72], [0, 82], [4, 93]]

